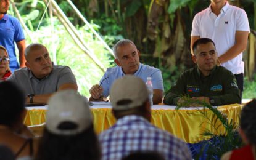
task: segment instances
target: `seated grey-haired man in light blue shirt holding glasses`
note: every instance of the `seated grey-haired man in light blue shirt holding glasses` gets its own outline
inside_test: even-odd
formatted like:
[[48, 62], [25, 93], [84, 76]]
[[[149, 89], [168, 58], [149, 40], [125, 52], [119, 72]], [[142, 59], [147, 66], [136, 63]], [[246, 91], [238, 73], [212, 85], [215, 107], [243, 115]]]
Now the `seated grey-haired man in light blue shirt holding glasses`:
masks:
[[128, 39], [118, 41], [113, 48], [113, 52], [117, 66], [107, 69], [101, 78], [101, 86], [96, 84], [91, 87], [89, 90], [91, 94], [90, 100], [102, 101], [104, 97], [109, 96], [109, 90], [116, 79], [126, 74], [133, 74], [141, 78], [145, 83], [147, 77], [151, 77], [153, 84], [153, 104], [161, 103], [163, 98], [163, 78], [161, 71], [152, 66], [142, 65], [139, 62], [139, 50]]

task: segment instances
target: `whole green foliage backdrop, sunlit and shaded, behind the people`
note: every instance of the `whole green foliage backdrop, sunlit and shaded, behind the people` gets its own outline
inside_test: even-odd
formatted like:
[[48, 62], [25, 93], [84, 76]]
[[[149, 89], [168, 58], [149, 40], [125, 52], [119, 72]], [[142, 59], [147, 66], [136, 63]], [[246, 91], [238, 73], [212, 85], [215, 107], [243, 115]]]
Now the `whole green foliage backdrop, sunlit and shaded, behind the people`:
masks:
[[[94, 4], [92, 2], [95, 2]], [[233, 1], [237, 2], [240, 6], [243, 6], [249, 17], [250, 27], [254, 28], [254, 8], [256, 1]], [[72, 10], [67, 1], [57, 1], [60, 8], [64, 10], [67, 17], [78, 29], [81, 37], [86, 44], [93, 50], [97, 58], [104, 64], [105, 68], [114, 66], [114, 57], [104, 49], [102, 44], [96, 39], [93, 33], [87, 26], [81, 22], [80, 18]], [[189, 53], [189, 39], [192, 18], [194, 15], [205, 7], [209, 6], [209, 1], [198, 0], [170, 0], [167, 1], [167, 6], [163, 15], [159, 17], [159, 26], [156, 31], [160, 34], [165, 28], [166, 18], [170, 18], [171, 34], [181, 34], [184, 39], [184, 51], [186, 52], [185, 58], [176, 57], [163, 53], [155, 55], [154, 46], [161, 46], [161, 36], [156, 41], [150, 41], [146, 39], [146, 23], [147, 16], [149, 15], [149, 9], [152, 5], [151, 0], [109, 0], [109, 1], [97, 1], [97, 0], [77, 0], [73, 3], [78, 7], [80, 12], [86, 17], [94, 29], [102, 35], [105, 42], [110, 47], [114, 46], [115, 42], [119, 39], [131, 39], [141, 50], [141, 62], [151, 66], [160, 68], [162, 71], [163, 82], [165, 91], [170, 89], [174, 84], [178, 76], [187, 68], [191, 67], [190, 53]], [[67, 65], [72, 68], [75, 73], [76, 79], [79, 85], [79, 92], [89, 97], [89, 88], [93, 84], [97, 84], [101, 79], [102, 73], [99, 68], [85, 55], [76, 44], [70, 35], [65, 31], [64, 26], [54, 17], [50, 21], [49, 12], [43, 17], [42, 22], [39, 25], [43, 12], [46, 9], [46, 3], [44, 1], [37, 0], [18, 0], [15, 1], [17, 8], [19, 9], [22, 19], [25, 21], [28, 29], [27, 44], [31, 42], [41, 42], [49, 49], [52, 60], [56, 55], [57, 65]], [[14, 14], [14, 10], [10, 7], [9, 13]], [[181, 30], [177, 30], [180, 27], [178, 22], [181, 22]], [[38, 28], [39, 26], [39, 28]], [[38, 29], [37, 29], [38, 28]], [[31, 39], [29, 39], [30, 35]], [[178, 35], [179, 37], [179, 35]], [[171, 46], [173, 45], [173, 46]], [[176, 44], [170, 44], [171, 47]], [[173, 50], [167, 50], [168, 53]], [[186, 64], [189, 61], [190, 65]], [[245, 90], [243, 98], [256, 97], [255, 92], [255, 78], [253, 81], [245, 81]]]

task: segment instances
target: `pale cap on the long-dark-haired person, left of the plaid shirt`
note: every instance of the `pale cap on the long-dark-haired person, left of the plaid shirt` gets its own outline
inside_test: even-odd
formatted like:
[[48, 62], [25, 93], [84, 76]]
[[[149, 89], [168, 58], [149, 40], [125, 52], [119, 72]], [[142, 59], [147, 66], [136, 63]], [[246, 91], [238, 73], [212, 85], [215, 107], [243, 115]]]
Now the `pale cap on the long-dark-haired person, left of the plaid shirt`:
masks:
[[[72, 127], [60, 127], [65, 122]], [[92, 124], [88, 100], [75, 90], [64, 90], [54, 94], [49, 100], [46, 114], [46, 128], [58, 135], [76, 135]]]

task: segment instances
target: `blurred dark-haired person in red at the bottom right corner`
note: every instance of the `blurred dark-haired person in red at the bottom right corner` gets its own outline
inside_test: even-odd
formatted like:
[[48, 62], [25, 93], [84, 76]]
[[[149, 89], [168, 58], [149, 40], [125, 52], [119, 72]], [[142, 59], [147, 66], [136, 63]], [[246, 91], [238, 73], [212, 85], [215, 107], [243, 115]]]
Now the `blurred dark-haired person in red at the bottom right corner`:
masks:
[[223, 154], [221, 159], [256, 159], [256, 99], [242, 108], [239, 134], [245, 146]]

